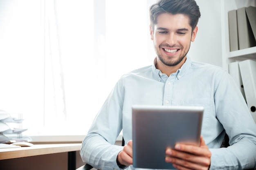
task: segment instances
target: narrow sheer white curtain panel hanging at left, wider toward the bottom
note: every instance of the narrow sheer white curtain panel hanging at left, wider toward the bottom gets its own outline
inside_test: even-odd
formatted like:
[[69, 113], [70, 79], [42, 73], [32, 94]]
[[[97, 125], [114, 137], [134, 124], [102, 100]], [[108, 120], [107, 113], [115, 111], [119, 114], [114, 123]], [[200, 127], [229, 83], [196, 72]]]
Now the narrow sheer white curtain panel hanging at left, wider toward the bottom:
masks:
[[45, 102], [44, 125], [66, 121], [64, 75], [54, 0], [45, 0]]

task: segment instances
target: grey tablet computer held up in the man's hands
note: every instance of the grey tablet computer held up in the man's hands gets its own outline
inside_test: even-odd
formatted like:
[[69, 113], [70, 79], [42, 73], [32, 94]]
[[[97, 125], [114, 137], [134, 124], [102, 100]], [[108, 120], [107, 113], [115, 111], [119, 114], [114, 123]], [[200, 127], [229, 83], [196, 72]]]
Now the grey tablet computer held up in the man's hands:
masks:
[[200, 106], [132, 106], [133, 167], [175, 169], [165, 162], [176, 143], [200, 145], [204, 108]]

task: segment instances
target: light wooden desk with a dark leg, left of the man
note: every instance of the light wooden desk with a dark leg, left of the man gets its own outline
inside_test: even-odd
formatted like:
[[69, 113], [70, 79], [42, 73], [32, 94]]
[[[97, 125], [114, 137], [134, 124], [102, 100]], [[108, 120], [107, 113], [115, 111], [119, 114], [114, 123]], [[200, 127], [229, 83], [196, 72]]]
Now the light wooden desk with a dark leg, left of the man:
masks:
[[76, 151], [80, 148], [81, 144], [35, 144], [21, 148], [4, 148], [0, 149], [0, 160], [68, 152], [68, 170], [75, 170]]

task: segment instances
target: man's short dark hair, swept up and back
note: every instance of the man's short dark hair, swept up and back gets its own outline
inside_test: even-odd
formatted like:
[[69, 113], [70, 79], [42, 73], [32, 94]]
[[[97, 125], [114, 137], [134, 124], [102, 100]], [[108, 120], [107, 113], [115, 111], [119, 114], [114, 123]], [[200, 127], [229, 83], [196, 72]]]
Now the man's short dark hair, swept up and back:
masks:
[[195, 0], [158, 0], [150, 7], [150, 25], [153, 29], [154, 25], [157, 24], [157, 16], [162, 13], [182, 13], [188, 16], [192, 31], [198, 24], [198, 20], [201, 16]]

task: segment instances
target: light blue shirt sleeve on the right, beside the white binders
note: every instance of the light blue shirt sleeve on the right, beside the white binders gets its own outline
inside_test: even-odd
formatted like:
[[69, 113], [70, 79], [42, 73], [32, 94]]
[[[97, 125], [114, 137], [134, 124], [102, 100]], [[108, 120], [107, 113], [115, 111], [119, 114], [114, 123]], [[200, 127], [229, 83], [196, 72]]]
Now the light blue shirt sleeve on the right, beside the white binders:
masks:
[[256, 167], [256, 124], [242, 93], [225, 72], [215, 84], [216, 116], [229, 136], [228, 148], [210, 149], [211, 170]]

